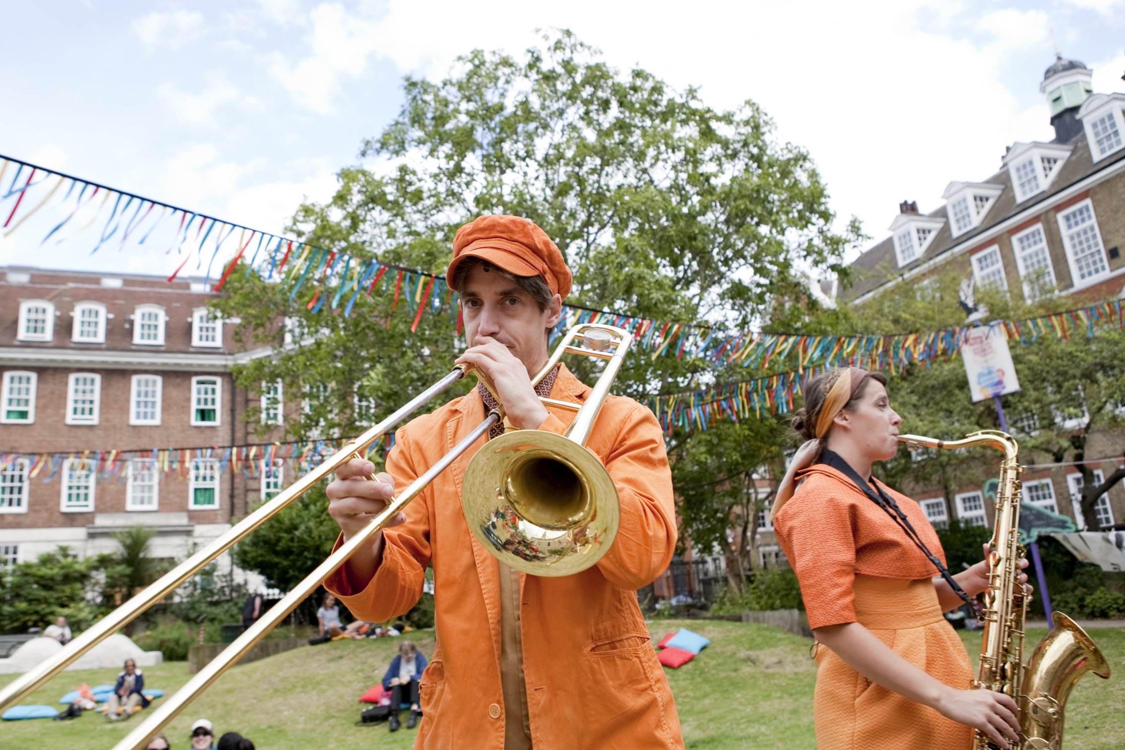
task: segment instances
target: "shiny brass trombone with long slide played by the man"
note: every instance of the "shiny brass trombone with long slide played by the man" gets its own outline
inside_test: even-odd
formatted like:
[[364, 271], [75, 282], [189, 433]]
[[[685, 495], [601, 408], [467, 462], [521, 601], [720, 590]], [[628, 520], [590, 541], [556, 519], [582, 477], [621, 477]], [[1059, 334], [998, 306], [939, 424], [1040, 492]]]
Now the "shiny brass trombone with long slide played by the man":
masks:
[[[597, 324], [572, 326], [555, 347], [547, 364], [536, 374], [533, 382], [542, 380], [567, 353], [603, 359], [606, 360], [606, 365], [585, 404], [541, 399], [547, 406], [577, 413], [566, 435], [540, 430], [510, 432], [489, 441], [486, 446], [488, 450], [479, 451], [469, 462], [461, 497], [466, 518], [485, 549], [511, 567], [537, 576], [568, 576], [596, 563], [609, 551], [610, 544], [616, 536], [620, 521], [616, 489], [609, 472], [585, 448], [585, 443], [631, 343], [632, 334], [614, 326]], [[171, 594], [180, 584], [277, 515], [314, 485], [328, 478], [349, 460], [362, 458], [367, 449], [387, 431], [470, 371], [471, 368], [466, 365], [454, 367], [449, 374], [386, 419], [349, 441], [341, 450], [226, 533], [79, 634], [54, 657], [0, 688], [0, 711], [15, 705], [42, 687], [68, 665]], [[501, 419], [503, 413], [500, 408], [489, 412], [465, 440], [403, 489], [360, 533], [317, 566], [308, 577], [266, 612], [218, 657], [200, 669], [182, 688], [152, 710], [144, 722], [115, 746], [115, 750], [143, 748], [186, 708], [196, 695], [245, 656], [316, 590], [332, 571], [343, 564], [356, 550], [368, 544], [388, 519], [406, 507], [457, 457], [471, 448]]]

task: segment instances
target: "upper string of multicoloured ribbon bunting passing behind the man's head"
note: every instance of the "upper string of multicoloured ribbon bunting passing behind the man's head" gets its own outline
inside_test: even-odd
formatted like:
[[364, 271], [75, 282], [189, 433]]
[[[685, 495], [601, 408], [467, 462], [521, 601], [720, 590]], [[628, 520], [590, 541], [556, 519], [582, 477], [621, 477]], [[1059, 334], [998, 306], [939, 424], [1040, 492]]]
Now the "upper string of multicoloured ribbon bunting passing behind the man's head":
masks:
[[[156, 208], [160, 210], [154, 210]], [[93, 253], [114, 244], [110, 241], [118, 234], [120, 246], [129, 236], [142, 237], [140, 243], [144, 244], [162, 227], [165, 234], [171, 229], [171, 235], [165, 237], [170, 240], [166, 253], [174, 251], [177, 255], [183, 255], [177, 259], [169, 281], [176, 279], [192, 256], [196, 257], [196, 268], [201, 269], [204, 256], [209, 255], [206, 279], [210, 282], [212, 273], [218, 271], [215, 291], [223, 288], [237, 264], [243, 262], [246, 273], [254, 271], [268, 281], [286, 284], [289, 299], [296, 301], [300, 296], [302, 300], [307, 300], [304, 304], [313, 313], [323, 313], [328, 308], [350, 316], [361, 292], [371, 297], [378, 291], [390, 301], [388, 327], [392, 316], [402, 308], [398, 314], [410, 316], [412, 332], [417, 331], [426, 313], [444, 317], [460, 331], [461, 320], [453, 304], [452, 290], [441, 274], [315, 247], [298, 240], [0, 155], [0, 218], [6, 219], [2, 225], [4, 236], [20, 227], [34, 226], [35, 222], [26, 220], [40, 210], [50, 213], [52, 209], [56, 209], [62, 218], [47, 220], [44, 227], [47, 232], [40, 245], [52, 238], [56, 243], [75, 241], [84, 236], [87, 229], [100, 226], [92, 244]], [[166, 222], [169, 217], [172, 217], [171, 222]], [[71, 224], [81, 228], [68, 235], [65, 229]], [[231, 245], [232, 259], [216, 269], [214, 264], [220, 250], [236, 231], [235, 244]], [[380, 311], [380, 315], [384, 314]], [[554, 335], [576, 323], [604, 323], [627, 328], [634, 334], [638, 349], [652, 360], [662, 356], [687, 358], [703, 360], [714, 367], [793, 370], [798, 374], [814, 368], [844, 364], [894, 373], [910, 364], [930, 363], [955, 355], [971, 329], [970, 326], [960, 326], [921, 333], [848, 335], [726, 331], [703, 323], [655, 320], [566, 305]], [[1005, 320], [1000, 325], [1009, 338], [1026, 344], [1045, 335], [1064, 340], [1079, 332], [1092, 335], [1096, 325], [1107, 323], [1123, 325], [1122, 300], [1022, 320]]]

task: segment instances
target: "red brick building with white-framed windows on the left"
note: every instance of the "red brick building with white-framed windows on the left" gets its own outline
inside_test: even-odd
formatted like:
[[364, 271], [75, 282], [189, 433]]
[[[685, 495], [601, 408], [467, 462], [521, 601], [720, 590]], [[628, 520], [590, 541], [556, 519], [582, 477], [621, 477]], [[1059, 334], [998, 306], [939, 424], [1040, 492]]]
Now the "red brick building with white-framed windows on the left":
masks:
[[[259, 442], [243, 417], [261, 396], [235, 386], [231, 367], [268, 351], [234, 351], [232, 324], [206, 309], [214, 297], [201, 279], [0, 269], [3, 561], [34, 560], [60, 544], [83, 557], [109, 551], [114, 531], [137, 524], [156, 531], [158, 557], [182, 559], [280, 488], [280, 476], [262, 487], [223, 470], [222, 451], [194, 453], [184, 477], [133, 454], [106, 480], [81, 458]], [[280, 424], [282, 405], [270, 406], [270, 422]], [[76, 458], [33, 476], [33, 460], [10, 455], [17, 452]]]

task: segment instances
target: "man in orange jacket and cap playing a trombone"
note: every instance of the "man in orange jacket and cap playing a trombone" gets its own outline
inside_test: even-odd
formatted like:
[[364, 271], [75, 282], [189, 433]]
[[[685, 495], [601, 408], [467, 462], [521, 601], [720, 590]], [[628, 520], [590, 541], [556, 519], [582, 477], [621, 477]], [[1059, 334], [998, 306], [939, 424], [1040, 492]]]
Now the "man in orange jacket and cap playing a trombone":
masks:
[[[559, 364], [540, 382], [548, 334], [570, 291], [570, 270], [547, 234], [515, 216], [484, 216], [453, 240], [447, 279], [458, 292], [469, 349], [457, 360], [493, 383], [506, 430], [562, 433], [573, 412], [540, 397], [582, 403], [590, 388]], [[339, 548], [495, 407], [484, 387], [396, 434], [387, 471], [353, 459], [328, 485]], [[421, 680], [417, 748], [683, 748], [667, 679], [637, 606], [636, 589], [665, 570], [676, 543], [672, 476], [656, 417], [624, 397], [606, 399], [587, 448], [620, 498], [616, 539], [573, 576], [521, 573], [492, 557], [461, 509], [477, 445], [326, 581], [361, 620], [410, 611], [433, 564], [438, 647]]]

